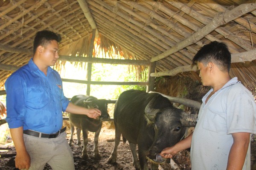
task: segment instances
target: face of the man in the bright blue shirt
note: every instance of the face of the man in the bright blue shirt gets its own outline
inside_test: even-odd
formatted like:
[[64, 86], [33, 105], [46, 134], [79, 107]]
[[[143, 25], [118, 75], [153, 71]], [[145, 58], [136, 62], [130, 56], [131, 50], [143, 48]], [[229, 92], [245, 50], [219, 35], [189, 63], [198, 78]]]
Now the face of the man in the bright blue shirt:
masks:
[[50, 41], [42, 51], [42, 62], [47, 66], [55, 65], [58, 59], [58, 42], [56, 40]]

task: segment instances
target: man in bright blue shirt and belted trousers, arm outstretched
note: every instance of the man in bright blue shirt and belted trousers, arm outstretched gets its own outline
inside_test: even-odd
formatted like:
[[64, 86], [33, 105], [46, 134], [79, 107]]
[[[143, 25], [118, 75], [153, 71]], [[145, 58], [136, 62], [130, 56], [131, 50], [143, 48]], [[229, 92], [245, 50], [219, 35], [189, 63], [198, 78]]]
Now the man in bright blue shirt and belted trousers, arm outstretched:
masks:
[[19, 169], [74, 170], [72, 151], [62, 127], [62, 111], [85, 114], [96, 119], [98, 109], [74, 105], [63, 94], [61, 77], [50, 68], [58, 59], [61, 37], [39, 31], [34, 40], [34, 56], [13, 73], [5, 83], [10, 132], [17, 152]]

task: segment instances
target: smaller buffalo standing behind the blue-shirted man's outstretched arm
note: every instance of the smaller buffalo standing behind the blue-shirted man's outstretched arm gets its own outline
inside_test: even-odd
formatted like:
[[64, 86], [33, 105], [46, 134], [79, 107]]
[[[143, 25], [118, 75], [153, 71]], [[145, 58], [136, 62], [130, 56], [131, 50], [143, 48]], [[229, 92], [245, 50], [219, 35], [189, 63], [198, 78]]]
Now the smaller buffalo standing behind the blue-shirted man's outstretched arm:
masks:
[[71, 136], [69, 140], [70, 146], [73, 145], [73, 133], [75, 130], [74, 126], [76, 126], [77, 139], [78, 139], [79, 145], [81, 145], [81, 140], [80, 140], [81, 130], [83, 132], [83, 137], [84, 137], [84, 148], [82, 152], [82, 159], [88, 159], [89, 155], [87, 153], [87, 144], [88, 144], [87, 133], [88, 131], [95, 132], [94, 149], [93, 149], [94, 159], [100, 159], [101, 156], [98, 150], [99, 132], [102, 127], [102, 121], [110, 120], [110, 116], [108, 114], [108, 103], [113, 103], [113, 101], [106, 100], [106, 99], [97, 99], [96, 97], [93, 97], [93, 96], [84, 96], [84, 95], [73, 96], [70, 101], [75, 105], [79, 105], [84, 108], [97, 108], [101, 111], [102, 115], [99, 116], [98, 119], [92, 119], [86, 115], [69, 113], [70, 126], [71, 126]]

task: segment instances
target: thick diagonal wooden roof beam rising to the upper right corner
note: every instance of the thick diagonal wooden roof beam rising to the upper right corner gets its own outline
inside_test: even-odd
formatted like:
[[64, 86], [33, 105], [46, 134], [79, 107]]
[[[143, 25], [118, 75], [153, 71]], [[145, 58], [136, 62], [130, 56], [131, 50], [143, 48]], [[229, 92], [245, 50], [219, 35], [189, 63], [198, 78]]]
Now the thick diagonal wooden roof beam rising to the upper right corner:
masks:
[[169, 50], [166, 50], [162, 54], [159, 54], [156, 57], [153, 57], [150, 61], [151, 62], [158, 61], [160, 59], [168, 57], [171, 54], [174, 54], [175, 52], [177, 52], [183, 48], [186, 48], [187, 46], [201, 40], [203, 37], [208, 35], [210, 32], [214, 31], [219, 26], [224, 25], [232, 20], [235, 20], [236, 18], [241, 17], [242, 15], [244, 15], [250, 11], [253, 11], [255, 8], [256, 8], [256, 3], [245, 3], [245, 4], [241, 4], [240, 6], [237, 6], [233, 10], [230, 10], [223, 14], [217, 15], [204, 28], [195, 32], [194, 34], [192, 34], [190, 37], [186, 38], [185, 40], [177, 43], [175, 46], [173, 46]]

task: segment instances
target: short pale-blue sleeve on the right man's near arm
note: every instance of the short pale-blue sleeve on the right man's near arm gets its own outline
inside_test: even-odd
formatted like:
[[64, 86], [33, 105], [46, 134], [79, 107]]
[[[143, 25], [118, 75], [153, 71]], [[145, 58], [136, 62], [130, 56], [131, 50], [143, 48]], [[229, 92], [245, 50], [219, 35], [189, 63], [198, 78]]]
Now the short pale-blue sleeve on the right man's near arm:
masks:
[[256, 133], [256, 104], [247, 89], [235, 89], [228, 95], [227, 134]]

